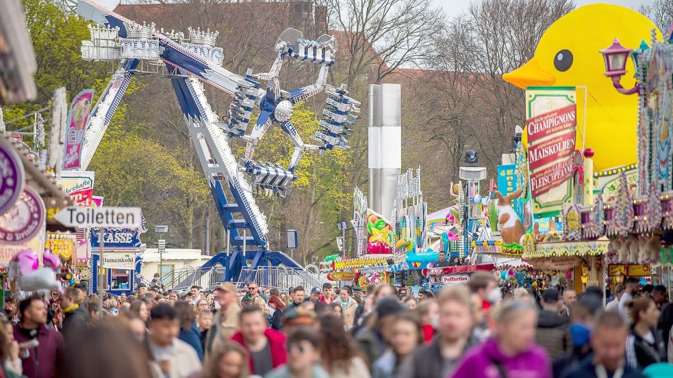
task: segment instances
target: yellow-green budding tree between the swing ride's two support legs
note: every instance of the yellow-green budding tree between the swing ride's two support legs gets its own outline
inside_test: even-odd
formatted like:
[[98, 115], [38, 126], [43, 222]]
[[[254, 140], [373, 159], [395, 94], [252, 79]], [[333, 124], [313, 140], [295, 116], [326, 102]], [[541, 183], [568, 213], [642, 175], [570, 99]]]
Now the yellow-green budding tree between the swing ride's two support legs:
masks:
[[186, 150], [152, 139], [112, 131], [90, 164], [95, 191], [106, 206], [140, 206], [148, 226], [168, 222], [171, 230], [191, 232], [194, 211], [209, 200], [201, 172], [190, 167]]

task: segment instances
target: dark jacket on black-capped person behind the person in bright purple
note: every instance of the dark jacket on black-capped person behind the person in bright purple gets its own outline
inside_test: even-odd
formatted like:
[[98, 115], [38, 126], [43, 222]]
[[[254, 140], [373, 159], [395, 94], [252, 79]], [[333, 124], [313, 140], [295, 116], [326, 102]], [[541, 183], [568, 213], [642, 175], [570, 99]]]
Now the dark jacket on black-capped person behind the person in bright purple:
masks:
[[568, 318], [557, 312], [542, 310], [537, 316], [537, 345], [546, 349], [552, 360], [570, 354], [572, 338]]

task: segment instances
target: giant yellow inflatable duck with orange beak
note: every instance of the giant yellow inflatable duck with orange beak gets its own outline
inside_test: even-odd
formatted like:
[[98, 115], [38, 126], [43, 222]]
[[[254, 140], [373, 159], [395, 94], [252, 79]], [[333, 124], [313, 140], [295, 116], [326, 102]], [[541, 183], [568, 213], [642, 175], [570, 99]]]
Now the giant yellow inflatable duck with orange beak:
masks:
[[[542, 35], [533, 59], [503, 75], [503, 79], [522, 89], [578, 87], [576, 147], [594, 149], [596, 172], [633, 164], [638, 96], [626, 96], [613, 88], [612, 81], [603, 75], [605, 64], [598, 51], [609, 46], [615, 37], [622, 45], [637, 49], [642, 40], [650, 43], [652, 29], [661, 40], [655, 24], [634, 10], [611, 4], [585, 5], [553, 23]], [[631, 88], [635, 85], [631, 59], [626, 70], [622, 85]], [[587, 87], [585, 125], [585, 92], [581, 86]]]

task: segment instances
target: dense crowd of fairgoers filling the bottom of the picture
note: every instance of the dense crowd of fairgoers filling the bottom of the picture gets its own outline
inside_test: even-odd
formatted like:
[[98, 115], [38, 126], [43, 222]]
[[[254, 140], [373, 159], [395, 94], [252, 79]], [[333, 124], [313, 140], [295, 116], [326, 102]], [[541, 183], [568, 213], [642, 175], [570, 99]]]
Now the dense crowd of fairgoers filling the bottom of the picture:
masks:
[[5, 300], [0, 378], [673, 377], [658, 364], [673, 362], [662, 288], [626, 280], [605, 306], [600, 288], [505, 293], [485, 272], [416, 296], [388, 284], [207, 293], [153, 281], [128, 296], [78, 284]]

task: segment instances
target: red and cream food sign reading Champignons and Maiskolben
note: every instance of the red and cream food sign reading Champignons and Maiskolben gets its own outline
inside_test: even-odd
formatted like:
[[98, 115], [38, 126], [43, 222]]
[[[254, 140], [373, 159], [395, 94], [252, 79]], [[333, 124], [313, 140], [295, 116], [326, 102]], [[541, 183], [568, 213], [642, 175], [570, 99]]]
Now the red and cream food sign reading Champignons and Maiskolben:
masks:
[[526, 137], [535, 218], [561, 213], [572, 198], [577, 106], [574, 87], [526, 88]]

